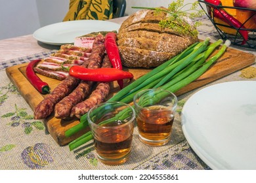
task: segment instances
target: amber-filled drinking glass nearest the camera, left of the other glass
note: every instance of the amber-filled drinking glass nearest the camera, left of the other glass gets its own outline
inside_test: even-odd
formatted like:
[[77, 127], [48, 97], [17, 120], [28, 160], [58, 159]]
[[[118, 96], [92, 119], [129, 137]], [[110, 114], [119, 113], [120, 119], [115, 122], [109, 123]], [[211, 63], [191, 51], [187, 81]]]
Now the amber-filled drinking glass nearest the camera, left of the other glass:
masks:
[[89, 110], [87, 119], [100, 161], [107, 165], [125, 163], [133, 140], [133, 107], [120, 102], [101, 103]]

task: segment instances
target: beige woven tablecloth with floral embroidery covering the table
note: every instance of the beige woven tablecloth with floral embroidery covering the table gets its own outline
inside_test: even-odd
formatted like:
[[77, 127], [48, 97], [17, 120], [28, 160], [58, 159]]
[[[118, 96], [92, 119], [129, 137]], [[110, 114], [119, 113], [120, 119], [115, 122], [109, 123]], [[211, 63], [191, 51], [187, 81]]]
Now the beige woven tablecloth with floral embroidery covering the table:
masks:
[[[121, 24], [126, 18], [109, 21]], [[215, 27], [206, 16], [202, 22], [203, 25], [198, 28], [199, 38], [219, 39]], [[42, 121], [33, 120], [32, 109], [7, 77], [5, 68], [49, 56], [59, 48], [37, 42], [33, 35], [0, 40], [0, 169], [211, 169], [198, 158], [186, 141], [181, 129], [180, 112], [175, 116], [171, 141], [165, 146], [152, 148], [142, 144], [135, 127], [131, 157], [123, 165], [100, 163], [92, 142], [72, 152], [68, 146], [58, 146]], [[234, 48], [255, 54], [255, 50]], [[242, 78], [238, 71], [202, 88], [232, 80], [256, 78]], [[181, 95], [178, 110], [181, 111], [186, 100], [202, 88]]]

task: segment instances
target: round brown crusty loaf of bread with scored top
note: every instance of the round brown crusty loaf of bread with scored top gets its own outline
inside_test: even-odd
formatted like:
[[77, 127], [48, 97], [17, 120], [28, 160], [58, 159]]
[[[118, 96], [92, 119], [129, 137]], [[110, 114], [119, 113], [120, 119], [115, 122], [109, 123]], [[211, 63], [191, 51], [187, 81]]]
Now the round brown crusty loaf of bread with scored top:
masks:
[[[160, 26], [166, 12], [143, 9], [129, 16], [119, 28], [117, 45], [125, 67], [158, 67], [198, 41], [197, 35], [182, 34]], [[188, 18], [184, 22], [191, 24]]]

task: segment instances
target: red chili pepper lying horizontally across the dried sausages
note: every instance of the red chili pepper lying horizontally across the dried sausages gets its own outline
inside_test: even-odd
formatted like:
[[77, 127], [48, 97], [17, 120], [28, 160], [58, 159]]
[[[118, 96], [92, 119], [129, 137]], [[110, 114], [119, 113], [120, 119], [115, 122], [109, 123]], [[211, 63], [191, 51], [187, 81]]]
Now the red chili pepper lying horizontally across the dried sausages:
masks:
[[125, 78], [132, 79], [133, 74], [116, 68], [99, 68], [88, 69], [79, 65], [69, 68], [70, 76], [81, 80], [89, 80], [95, 82], [112, 82], [114, 80], [123, 80]]

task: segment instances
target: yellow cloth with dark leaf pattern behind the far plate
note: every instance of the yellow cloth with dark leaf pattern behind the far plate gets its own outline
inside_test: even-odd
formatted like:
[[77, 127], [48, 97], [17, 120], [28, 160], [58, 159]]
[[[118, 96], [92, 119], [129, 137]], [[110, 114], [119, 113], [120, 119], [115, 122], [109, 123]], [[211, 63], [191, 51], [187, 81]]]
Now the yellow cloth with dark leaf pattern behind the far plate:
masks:
[[113, 0], [70, 0], [70, 7], [63, 21], [112, 18]]

